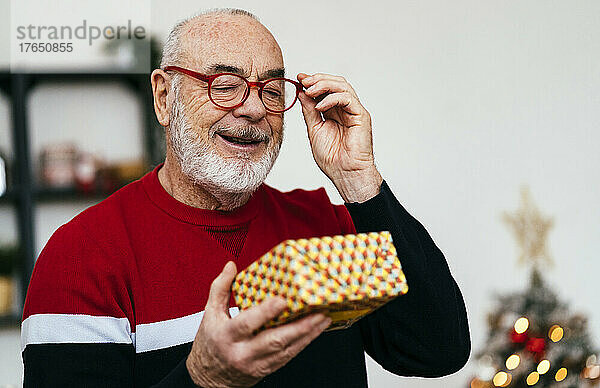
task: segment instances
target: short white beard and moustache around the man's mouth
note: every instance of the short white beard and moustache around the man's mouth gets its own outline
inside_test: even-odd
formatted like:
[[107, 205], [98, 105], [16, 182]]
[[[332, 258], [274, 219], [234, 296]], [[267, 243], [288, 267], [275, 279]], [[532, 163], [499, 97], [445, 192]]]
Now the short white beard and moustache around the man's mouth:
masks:
[[[173, 154], [176, 156], [181, 171], [194, 184], [216, 193], [252, 193], [266, 179], [279, 155], [283, 141], [283, 131], [279, 143], [273, 147], [274, 138], [265, 135], [254, 126], [242, 128], [210, 127], [208, 139], [213, 139], [215, 132], [231, 134], [249, 134], [257, 138], [263, 137], [267, 142], [267, 152], [259, 161], [249, 160], [244, 153], [236, 158], [223, 158], [214, 147], [194, 138], [194, 132], [185, 116], [185, 104], [174, 90], [174, 103], [171, 110], [169, 139]], [[226, 132], [227, 131], [227, 132]]]

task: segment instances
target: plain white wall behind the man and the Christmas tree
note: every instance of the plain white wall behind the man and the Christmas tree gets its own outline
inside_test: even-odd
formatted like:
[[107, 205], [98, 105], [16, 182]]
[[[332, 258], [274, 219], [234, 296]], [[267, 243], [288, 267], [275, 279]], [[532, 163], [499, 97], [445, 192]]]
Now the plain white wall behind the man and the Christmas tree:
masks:
[[[574, 310], [587, 314], [600, 346], [600, 3], [340, 4], [154, 1], [152, 23], [164, 38], [173, 23], [201, 8], [243, 7], [272, 30], [288, 74], [330, 72], [352, 83], [373, 117], [379, 169], [446, 254], [461, 286], [476, 351], [486, 338], [492, 292], [521, 289], [527, 281], [500, 214], [517, 208], [519, 187], [528, 184], [542, 211], [555, 218], [549, 247], [556, 265], [547, 278]], [[119, 103], [129, 101], [113, 92]], [[73, 122], [89, 114], [69, 112]], [[93, 121], [95, 128], [105, 123]], [[44, 128], [63, 130], [56, 120]], [[280, 189], [324, 185], [341, 203], [312, 161], [305, 131], [295, 107], [268, 183]], [[119, 147], [109, 137], [98, 144]], [[42, 209], [40, 244], [84, 206]], [[3, 225], [0, 236], [7, 233]], [[0, 353], [10, 352], [5, 338]], [[17, 358], [18, 348], [12, 352]], [[0, 386], [18, 381], [20, 371], [10, 369], [0, 367]], [[406, 379], [369, 362], [373, 387], [459, 387], [473, 371], [470, 363], [441, 380]]]

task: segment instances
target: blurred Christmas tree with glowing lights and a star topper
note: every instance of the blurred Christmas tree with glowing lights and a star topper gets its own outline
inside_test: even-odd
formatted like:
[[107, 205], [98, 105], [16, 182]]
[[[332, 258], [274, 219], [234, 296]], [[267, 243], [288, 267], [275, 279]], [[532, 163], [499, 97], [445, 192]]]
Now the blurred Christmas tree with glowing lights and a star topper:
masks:
[[552, 219], [540, 214], [524, 189], [520, 209], [504, 214], [504, 220], [520, 247], [519, 261], [531, 267], [530, 282], [521, 292], [497, 296], [471, 388], [597, 386], [600, 357], [592, 349], [586, 318], [569, 312], [542, 277], [552, 265], [546, 248]]

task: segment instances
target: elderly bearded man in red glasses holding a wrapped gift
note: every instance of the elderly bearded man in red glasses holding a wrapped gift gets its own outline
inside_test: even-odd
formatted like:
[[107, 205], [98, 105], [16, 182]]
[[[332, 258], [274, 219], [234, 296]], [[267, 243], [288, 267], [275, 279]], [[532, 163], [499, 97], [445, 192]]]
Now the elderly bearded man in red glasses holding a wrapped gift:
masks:
[[[470, 351], [443, 254], [374, 165], [371, 120], [342, 77], [284, 78], [254, 16], [216, 10], [176, 25], [152, 73], [164, 163], [52, 236], [23, 314], [26, 387], [363, 387], [364, 352], [398, 375], [442, 376]], [[323, 189], [263, 183], [302, 105]], [[349, 329], [312, 314], [256, 332], [273, 298], [240, 312], [230, 286], [285, 239], [389, 230], [410, 284]]]

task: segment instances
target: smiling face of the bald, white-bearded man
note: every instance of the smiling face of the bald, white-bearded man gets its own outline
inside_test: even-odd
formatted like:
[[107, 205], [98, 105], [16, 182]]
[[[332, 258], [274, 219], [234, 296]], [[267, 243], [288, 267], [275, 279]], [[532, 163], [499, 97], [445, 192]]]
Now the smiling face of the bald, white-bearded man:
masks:
[[[245, 16], [211, 15], [188, 24], [182, 64], [203, 74], [239, 73], [250, 81], [283, 70], [279, 45]], [[270, 113], [252, 88], [238, 108], [225, 110], [208, 97], [207, 84], [179, 75], [169, 137], [182, 171], [195, 183], [228, 192], [255, 190], [266, 178], [283, 140], [283, 115]], [[239, 139], [254, 140], [238, 144]]]

